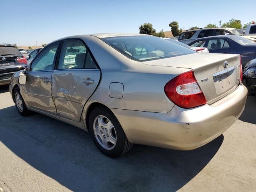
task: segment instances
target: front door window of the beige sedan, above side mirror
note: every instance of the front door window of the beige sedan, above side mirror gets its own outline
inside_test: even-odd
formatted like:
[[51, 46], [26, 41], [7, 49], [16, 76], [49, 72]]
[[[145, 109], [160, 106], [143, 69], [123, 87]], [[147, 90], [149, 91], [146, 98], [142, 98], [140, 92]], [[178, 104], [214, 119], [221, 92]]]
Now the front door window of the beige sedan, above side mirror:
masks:
[[31, 64], [31, 71], [53, 70], [58, 43], [45, 48]]

